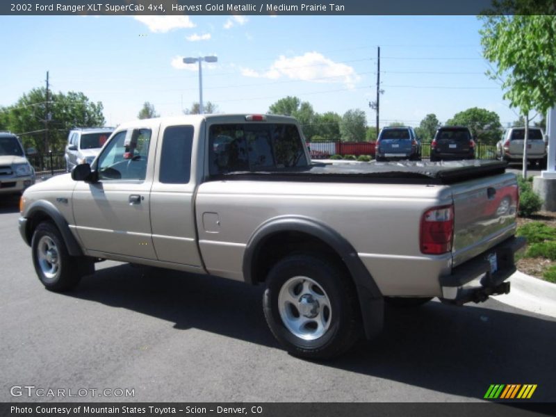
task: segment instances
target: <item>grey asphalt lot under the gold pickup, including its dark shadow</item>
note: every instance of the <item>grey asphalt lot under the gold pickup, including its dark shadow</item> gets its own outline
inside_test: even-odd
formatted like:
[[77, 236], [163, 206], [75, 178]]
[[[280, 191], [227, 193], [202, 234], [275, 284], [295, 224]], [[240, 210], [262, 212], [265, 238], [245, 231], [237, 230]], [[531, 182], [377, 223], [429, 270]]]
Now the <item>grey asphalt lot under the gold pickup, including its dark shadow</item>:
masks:
[[[261, 288], [105, 262], [64, 295], [44, 290], [0, 200], [0, 401], [12, 386], [134, 389], [133, 401], [477, 401], [490, 384], [556, 400], [556, 320], [494, 300], [386, 310], [381, 336], [313, 363], [281, 350]], [[79, 398], [71, 398], [79, 400]], [[82, 400], [116, 400], [90, 398]]]

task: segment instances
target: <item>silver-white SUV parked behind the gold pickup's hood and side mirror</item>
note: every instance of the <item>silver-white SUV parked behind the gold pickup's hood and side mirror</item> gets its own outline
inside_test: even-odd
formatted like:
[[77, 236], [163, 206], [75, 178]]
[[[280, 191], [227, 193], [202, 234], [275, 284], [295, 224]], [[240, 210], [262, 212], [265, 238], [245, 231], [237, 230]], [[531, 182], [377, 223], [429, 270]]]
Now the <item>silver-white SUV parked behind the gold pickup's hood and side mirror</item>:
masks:
[[66, 171], [70, 172], [75, 165], [95, 161], [102, 145], [113, 131], [113, 127], [72, 129], [67, 136], [67, 146], [65, 147]]

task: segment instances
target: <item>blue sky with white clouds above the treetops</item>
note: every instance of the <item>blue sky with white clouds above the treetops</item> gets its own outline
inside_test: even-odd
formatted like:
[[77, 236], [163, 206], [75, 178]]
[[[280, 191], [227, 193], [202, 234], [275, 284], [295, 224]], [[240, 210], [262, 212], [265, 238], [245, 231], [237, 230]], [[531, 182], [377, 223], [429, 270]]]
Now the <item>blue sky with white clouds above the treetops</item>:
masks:
[[197, 65], [181, 58], [216, 55], [203, 94], [222, 113], [265, 113], [295, 95], [319, 113], [360, 108], [374, 126], [380, 45], [381, 126], [473, 106], [505, 125], [518, 117], [484, 75], [480, 26], [474, 16], [1, 16], [0, 105], [49, 70], [53, 90], [102, 101], [107, 124], [133, 120], [144, 101], [179, 115], [199, 99]]

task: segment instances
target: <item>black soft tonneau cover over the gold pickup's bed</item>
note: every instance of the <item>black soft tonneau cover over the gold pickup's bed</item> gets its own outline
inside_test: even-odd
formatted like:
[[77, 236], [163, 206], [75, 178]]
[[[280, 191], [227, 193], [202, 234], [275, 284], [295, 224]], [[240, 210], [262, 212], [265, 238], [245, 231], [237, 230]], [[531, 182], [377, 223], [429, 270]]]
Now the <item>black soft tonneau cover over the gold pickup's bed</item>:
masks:
[[505, 172], [501, 161], [400, 161], [389, 163], [312, 163], [280, 170], [228, 172], [212, 177], [226, 180], [325, 181], [364, 183], [452, 184]]

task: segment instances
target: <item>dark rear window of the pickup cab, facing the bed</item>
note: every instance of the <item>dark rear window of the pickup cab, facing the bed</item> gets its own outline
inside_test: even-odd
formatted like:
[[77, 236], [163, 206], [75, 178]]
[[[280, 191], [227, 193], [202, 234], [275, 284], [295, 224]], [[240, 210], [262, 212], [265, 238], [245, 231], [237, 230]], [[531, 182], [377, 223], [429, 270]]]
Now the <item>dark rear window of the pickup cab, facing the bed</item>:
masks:
[[295, 124], [213, 124], [208, 131], [211, 175], [304, 167], [307, 161]]

